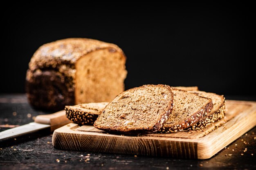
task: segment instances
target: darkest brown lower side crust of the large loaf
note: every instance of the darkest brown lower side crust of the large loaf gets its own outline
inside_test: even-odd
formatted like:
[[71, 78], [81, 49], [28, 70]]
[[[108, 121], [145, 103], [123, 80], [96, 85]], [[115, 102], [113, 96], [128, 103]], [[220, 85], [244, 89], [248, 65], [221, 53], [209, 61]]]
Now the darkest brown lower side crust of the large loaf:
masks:
[[66, 105], [74, 105], [74, 89], [69, 90], [70, 80], [56, 71], [37, 71], [31, 79], [26, 79], [29, 103], [38, 109], [63, 110]]

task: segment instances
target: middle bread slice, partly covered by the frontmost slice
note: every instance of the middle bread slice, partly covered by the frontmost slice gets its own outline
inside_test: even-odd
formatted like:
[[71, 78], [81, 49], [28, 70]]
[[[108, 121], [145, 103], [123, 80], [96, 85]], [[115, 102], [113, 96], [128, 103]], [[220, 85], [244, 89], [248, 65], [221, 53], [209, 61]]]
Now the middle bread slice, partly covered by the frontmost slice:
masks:
[[164, 123], [161, 132], [177, 132], [197, 123], [213, 108], [212, 100], [179, 89], [172, 89], [174, 95], [173, 112]]

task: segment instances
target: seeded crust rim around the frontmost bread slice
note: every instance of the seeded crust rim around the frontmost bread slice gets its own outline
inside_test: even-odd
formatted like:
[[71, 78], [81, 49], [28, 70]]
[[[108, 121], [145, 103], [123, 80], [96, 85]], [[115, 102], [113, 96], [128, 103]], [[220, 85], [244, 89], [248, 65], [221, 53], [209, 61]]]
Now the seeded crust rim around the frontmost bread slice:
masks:
[[[110, 107], [110, 105], [112, 105], [112, 103], [118, 101], [120, 98], [122, 98], [122, 96], [126, 93], [133, 93], [133, 91], [135, 91], [135, 89], [139, 89], [139, 88], [147, 88], [148, 86], [150, 87], [159, 87], [159, 88], [166, 88], [168, 93], [171, 95], [171, 99], [168, 99], [168, 107], [165, 108], [164, 112], [161, 113], [162, 116], [156, 121], [154, 122], [154, 126], [152, 127], [147, 127], [147, 128], [142, 128], [142, 127], [132, 127], [132, 128], [126, 128], [126, 126], [119, 126], [119, 125], [115, 125], [115, 126], [105, 126], [106, 121], [102, 121], [103, 116], [105, 116], [104, 114], [106, 114], [105, 110], [107, 108]], [[153, 97], [153, 96], [152, 96]], [[111, 132], [111, 133], [117, 133], [117, 134], [125, 134], [125, 135], [141, 135], [141, 134], [148, 134], [148, 133], [153, 133], [153, 132], [157, 132], [164, 124], [164, 122], [166, 121], [166, 119], [168, 119], [168, 115], [171, 113], [173, 109], [173, 93], [171, 91], [171, 87], [168, 85], [162, 85], [162, 84], [158, 84], [158, 85], [144, 85], [144, 86], [140, 86], [140, 87], [136, 87], [136, 88], [131, 88], [121, 94], [119, 94], [112, 102], [110, 102], [102, 111], [101, 115], [97, 118], [97, 120], [94, 122], [94, 127], [98, 128], [100, 130], [104, 130], [107, 132]], [[141, 114], [141, 113], [139, 113]], [[139, 120], [137, 120], [139, 121]], [[110, 123], [110, 122], [107, 122]]]

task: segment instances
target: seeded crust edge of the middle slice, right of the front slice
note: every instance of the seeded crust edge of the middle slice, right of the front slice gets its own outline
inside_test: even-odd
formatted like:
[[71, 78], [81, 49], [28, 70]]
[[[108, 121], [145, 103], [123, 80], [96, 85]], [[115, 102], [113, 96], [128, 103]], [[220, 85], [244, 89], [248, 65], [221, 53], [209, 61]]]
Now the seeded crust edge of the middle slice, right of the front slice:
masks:
[[[188, 93], [187, 91], [182, 91], [179, 89], [172, 88], [173, 91], [180, 91], [184, 93]], [[196, 94], [195, 94], [196, 95]], [[200, 96], [201, 97], [201, 96]], [[212, 100], [206, 97], [203, 97], [207, 99], [207, 103], [198, 108], [198, 111], [193, 113], [192, 116], [187, 117], [186, 119], [181, 120], [178, 124], [176, 125], [171, 125], [168, 124], [167, 122], [164, 124], [164, 126], [159, 130], [160, 132], [177, 132], [177, 131], [182, 131], [183, 129], [189, 128], [193, 124], [197, 123], [202, 117], [207, 117], [209, 114], [210, 110], [213, 108], [213, 103]], [[175, 105], [175, 103], [174, 103]]]

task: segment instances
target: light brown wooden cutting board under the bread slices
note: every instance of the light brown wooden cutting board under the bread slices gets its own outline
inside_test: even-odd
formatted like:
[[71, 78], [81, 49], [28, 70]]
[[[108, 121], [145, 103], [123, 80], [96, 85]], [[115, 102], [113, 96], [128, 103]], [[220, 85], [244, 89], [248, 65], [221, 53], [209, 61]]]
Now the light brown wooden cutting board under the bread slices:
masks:
[[227, 100], [225, 119], [203, 131], [133, 137], [70, 123], [54, 131], [52, 143], [55, 148], [64, 150], [208, 159], [255, 125], [256, 102]]

